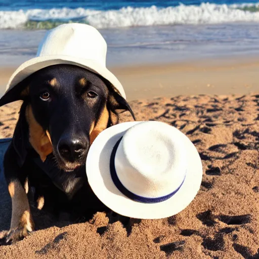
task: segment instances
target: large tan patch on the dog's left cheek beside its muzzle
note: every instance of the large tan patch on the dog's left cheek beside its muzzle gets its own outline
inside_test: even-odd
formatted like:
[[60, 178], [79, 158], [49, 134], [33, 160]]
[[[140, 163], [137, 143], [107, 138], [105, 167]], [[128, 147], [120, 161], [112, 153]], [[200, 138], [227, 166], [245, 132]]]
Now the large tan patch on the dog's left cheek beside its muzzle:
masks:
[[26, 107], [26, 119], [29, 125], [29, 142], [35, 151], [39, 154], [42, 162], [44, 162], [47, 156], [52, 153], [50, 138], [35, 120], [30, 105]]

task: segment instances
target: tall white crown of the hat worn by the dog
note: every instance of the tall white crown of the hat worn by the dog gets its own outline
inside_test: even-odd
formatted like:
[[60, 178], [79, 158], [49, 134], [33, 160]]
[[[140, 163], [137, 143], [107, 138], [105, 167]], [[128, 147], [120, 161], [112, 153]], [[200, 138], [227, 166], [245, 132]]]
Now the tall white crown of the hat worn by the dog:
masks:
[[87, 24], [63, 24], [47, 31], [37, 57], [63, 55], [95, 60], [106, 65], [107, 44], [100, 32]]

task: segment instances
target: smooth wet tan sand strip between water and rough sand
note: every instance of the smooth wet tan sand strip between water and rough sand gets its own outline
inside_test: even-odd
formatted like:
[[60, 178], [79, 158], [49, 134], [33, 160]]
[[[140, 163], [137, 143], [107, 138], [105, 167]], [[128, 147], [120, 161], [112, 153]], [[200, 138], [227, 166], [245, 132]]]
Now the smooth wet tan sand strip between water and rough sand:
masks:
[[[6, 84], [17, 67], [0, 66], [0, 96], [4, 94]], [[259, 92], [257, 57], [126, 65], [108, 69], [123, 85], [128, 101], [178, 95]]]

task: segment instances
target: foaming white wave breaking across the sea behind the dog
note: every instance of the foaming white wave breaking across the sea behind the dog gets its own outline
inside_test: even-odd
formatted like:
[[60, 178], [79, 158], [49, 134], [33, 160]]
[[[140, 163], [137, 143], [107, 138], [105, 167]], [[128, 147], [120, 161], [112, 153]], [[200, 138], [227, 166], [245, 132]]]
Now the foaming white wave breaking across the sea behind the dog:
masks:
[[97, 11], [83, 8], [29, 9], [0, 11], [0, 29], [50, 29], [62, 23], [87, 23], [96, 28], [151, 26], [168, 24], [215, 24], [226, 22], [259, 22], [259, 3], [147, 8], [126, 7]]

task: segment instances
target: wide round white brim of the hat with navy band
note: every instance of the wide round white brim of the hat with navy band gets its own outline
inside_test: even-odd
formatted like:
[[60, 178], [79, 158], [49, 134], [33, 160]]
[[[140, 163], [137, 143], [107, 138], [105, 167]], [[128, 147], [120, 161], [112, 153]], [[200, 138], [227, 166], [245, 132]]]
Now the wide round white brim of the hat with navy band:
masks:
[[152, 204], [127, 198], [111, 179], [110, 156], [114, 145], [125, 131], [140, 122], [123, 122], [107, 128], [98, 135], [87, 157], [88, 181], [96, 196], [107, 207], [121, 215], [137, 219], [167, 218], [186, 208], [196, 196], [202, 180], [201, 159], [193, 143], [179, 131], [188, 157], [186, 178], [179, 191], [163, 202]]

